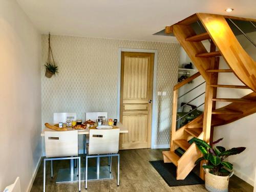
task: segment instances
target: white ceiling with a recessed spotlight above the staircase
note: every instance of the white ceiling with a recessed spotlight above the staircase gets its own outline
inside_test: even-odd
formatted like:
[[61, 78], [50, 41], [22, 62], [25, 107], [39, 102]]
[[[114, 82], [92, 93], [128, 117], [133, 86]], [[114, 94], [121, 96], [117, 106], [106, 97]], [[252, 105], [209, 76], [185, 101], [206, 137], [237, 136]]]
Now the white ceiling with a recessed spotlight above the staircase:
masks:
[[[176, 42], [153, 35], [196, 12], [256, 18], [255, 0], [17, 0], [42, 33]], [[227, 13], [226, 8], [234, 11]]]

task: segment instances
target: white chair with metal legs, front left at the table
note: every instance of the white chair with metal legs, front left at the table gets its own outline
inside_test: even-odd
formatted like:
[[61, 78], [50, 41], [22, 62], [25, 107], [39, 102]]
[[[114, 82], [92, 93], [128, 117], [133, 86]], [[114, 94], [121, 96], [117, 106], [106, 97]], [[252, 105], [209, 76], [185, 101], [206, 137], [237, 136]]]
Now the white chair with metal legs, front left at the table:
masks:
[[81, 160], [78, 157], [78, 131], [46, 131], [45, 132], [46, 158], [44, 159], [44, 192], [46, 187], [46, 161], [77, 159], [78, 182], [81, 190]]

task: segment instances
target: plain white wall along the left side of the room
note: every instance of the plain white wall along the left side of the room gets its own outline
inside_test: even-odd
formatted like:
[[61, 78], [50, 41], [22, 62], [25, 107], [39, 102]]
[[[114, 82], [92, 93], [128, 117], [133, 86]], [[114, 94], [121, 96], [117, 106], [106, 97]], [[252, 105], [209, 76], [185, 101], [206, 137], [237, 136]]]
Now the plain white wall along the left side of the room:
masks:
[[40, 35], [14, 0], [0, 0], [0, 191], [27, 191], [41, 158]]

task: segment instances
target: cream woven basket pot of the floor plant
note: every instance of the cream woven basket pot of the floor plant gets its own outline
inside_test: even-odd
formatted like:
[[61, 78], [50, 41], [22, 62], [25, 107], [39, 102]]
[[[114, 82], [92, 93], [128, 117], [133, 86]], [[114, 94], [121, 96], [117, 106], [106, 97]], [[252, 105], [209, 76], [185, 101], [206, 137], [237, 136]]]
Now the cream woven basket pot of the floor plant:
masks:
[[210, 192], [228, 192], [228, 182], [231, 176], [217, 176], [205, 170], [205, 188]]

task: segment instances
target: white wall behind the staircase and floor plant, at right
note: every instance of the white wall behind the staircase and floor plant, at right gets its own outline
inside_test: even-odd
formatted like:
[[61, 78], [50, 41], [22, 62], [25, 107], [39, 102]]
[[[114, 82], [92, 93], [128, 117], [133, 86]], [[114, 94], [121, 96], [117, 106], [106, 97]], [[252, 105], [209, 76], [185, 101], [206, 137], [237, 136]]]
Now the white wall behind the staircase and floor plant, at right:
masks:
[[[249, 33], [254, 42], [256, 41], [256, 32]], [[238, 40], [244, 47], [246, 52], [256, 60], [256, 48], [249, 42], [246, 37], [239, 35]], [[225, 61], [220, 60], [220, 68], [228, 69]], [[243, 85], [243, 83], [233, 74], [220, 74], [219, 84], [235, 84]], [[219, 98], [241, 98], [244, 95], [251, 93], [251, 90], [242, 89], [225, 89], [219, 88], [217, 97]], [[217, 107], [225, 105], [225, 102], [217, 103]], [[220, 143], [226, 148], [244, 146], [246, 150], [236, 156], [230, 156], [228, 160], [234, 164], [234, 174], [245, 180], [247, 183], [254, 184], [255, 167], [256, 167], [256, 113], [244, 117], [238, 121], [215, 127], [215, 139], [224, 137], [224, 140]]]

